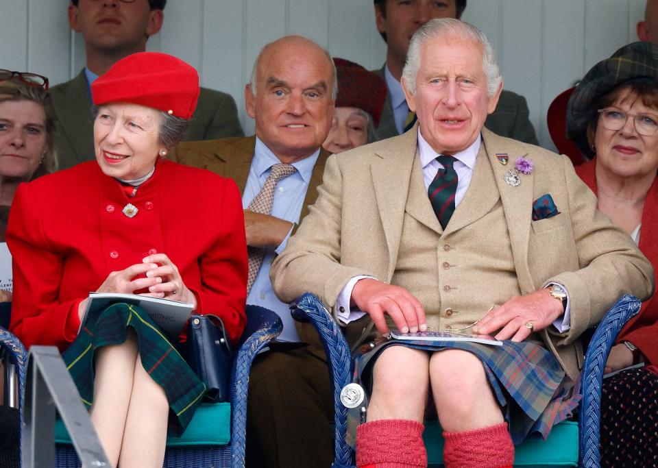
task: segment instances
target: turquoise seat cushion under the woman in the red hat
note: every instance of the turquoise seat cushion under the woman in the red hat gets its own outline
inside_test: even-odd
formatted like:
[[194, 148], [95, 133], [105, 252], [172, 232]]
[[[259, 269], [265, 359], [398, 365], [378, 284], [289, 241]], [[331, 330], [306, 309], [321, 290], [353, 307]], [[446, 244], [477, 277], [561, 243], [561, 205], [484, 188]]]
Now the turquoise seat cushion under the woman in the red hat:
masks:
[[[167, 437], [167, 447], [226, 445], [231, 440], [231, 404], [202, 403], [181, 437]], [[61, 419], [55, 423], [55, 442], [71, 445]]]

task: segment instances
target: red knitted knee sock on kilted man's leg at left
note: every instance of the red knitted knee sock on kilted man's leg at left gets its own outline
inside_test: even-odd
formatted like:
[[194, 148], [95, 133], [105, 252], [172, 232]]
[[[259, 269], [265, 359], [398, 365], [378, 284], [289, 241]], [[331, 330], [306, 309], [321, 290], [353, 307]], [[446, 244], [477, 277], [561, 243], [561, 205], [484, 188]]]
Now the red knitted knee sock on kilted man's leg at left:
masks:
[[356, 429], [358, 468], [427, 467], [422, 423], [382, 419]]

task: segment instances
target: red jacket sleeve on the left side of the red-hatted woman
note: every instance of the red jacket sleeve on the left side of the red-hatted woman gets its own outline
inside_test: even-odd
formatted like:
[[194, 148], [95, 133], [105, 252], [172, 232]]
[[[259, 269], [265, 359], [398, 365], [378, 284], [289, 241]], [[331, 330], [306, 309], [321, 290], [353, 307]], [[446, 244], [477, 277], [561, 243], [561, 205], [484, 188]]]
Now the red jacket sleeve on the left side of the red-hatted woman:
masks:
[[55, 345], [63, 350], [77, 336], [77, 305], [83, 298], [60, 301], [64, 252], [49, 245], [42, 220], [29, 184], [21, 184], [6, 236], [14, 271], [10, 330], [25, 347]]

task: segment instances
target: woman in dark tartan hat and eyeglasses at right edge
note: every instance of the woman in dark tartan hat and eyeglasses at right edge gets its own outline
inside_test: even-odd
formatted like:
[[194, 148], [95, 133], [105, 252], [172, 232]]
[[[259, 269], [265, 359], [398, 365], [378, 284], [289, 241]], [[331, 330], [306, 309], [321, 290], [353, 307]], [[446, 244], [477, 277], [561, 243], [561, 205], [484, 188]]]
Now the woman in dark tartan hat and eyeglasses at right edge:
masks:
[[[622, 227], [658, 269], [658, 46], [626, 45], [596, 64], [567, 110], [567, 137], [592, 160], [576, 173], [598, 209]], [[626, 369], [633, 365], [644, 365]], [[603, 381], [601, 465], [658, 465], [658, 299], [626, 324]]]

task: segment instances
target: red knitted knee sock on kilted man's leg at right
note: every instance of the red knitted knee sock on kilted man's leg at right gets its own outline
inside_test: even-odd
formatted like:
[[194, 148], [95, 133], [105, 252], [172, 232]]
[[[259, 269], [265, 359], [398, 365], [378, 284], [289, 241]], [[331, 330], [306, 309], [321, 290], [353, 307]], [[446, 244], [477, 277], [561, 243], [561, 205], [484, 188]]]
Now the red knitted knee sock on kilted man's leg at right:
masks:
[[507, 423], [464, 432], [443, 432], [446, 468], [511, 467], [514, 445]]

